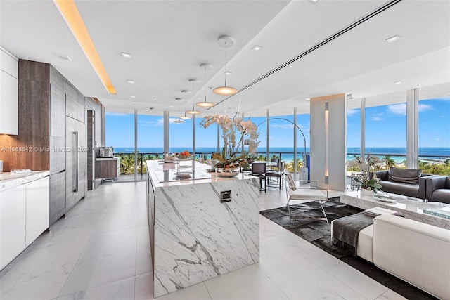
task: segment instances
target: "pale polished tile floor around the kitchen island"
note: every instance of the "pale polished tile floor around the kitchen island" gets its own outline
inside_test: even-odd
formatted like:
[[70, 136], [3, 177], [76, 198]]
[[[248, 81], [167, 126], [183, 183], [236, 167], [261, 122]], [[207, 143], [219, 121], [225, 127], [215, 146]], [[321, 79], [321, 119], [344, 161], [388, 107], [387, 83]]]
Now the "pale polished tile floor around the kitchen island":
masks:
[[[0, 273], [0, 299], [153, 299], [146, 183], [105, 183]], [[285, 204], [261, 193], [260, 209]], [[260, 217], [260, 262], [158, 299], [404, 299]]]

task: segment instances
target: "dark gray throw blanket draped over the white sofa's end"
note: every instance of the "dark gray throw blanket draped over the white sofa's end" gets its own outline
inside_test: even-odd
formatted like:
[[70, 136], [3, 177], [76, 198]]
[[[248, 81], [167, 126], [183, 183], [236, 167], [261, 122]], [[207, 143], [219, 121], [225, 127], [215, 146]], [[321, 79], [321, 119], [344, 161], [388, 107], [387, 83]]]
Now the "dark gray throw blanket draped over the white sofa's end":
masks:
[[359, 231], [373, 223], [373, 216], [363, 212], [333, 221], [333, 244], [356, 256]]

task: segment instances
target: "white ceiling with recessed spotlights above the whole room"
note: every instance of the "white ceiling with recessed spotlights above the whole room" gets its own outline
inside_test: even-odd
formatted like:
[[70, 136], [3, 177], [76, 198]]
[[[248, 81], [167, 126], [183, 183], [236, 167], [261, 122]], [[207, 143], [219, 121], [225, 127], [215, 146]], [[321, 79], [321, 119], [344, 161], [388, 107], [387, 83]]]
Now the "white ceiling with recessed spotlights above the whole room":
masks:
[[[209, 89], [224, 84], [225, 63], [232, 72], [227, 85], [243, 89], [387, 2], [75, 1], [117, 95], [108, 94], [101, 84], [53, 1], [0, 0], [0, 46], [18, 58], [51, 63], [108, 111], [136, 107], [141, 114], [170, 110], [175, 116], [175, 98], [186, 98], [187, 107], [192, 107], [198, 97], [204, 100], [205, 87], [208, 101], [226, 98]], [[235, 41], [226, 53], [217, 44], [222, 34]], [[396, 34], [399, 41], [385, 41]], [[254, 51], [255, 45], [263, 48]], [[131, 53], [131, 60], [121, 52]], [[212, 65], [207, 84], [201, 63]], [[191, 78], [198, 80], [194, 96]], [[135, 84], [127, 84], [128, 79]], [[240, 103], [245, 115], [265, 115], [267, 108], [271, 114], [291, 114], [293, 107], [302, 113], [309, 112], [305, 98], [349, 92], [354, 99], [401, 95], [406, 89], [449, 81], [450, 1], [403, 0], [203, 111], [236, 112]], [[181, 110], [184, 104], [181, 101]]]

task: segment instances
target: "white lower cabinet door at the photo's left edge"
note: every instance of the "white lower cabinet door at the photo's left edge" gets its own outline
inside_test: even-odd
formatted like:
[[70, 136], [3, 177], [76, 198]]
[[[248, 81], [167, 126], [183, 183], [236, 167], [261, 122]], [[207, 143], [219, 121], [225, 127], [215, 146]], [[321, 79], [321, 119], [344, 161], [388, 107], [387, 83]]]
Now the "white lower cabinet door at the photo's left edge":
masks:
[[25, 249], [25, 185], [0, 192], [0, 269]]

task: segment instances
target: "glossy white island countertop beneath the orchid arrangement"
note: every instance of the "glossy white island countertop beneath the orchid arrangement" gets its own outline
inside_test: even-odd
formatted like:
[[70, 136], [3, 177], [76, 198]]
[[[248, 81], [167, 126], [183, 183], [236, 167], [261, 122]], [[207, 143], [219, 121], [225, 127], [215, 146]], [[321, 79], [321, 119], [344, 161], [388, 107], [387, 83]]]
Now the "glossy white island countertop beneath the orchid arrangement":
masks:
[[[181, 164], [182, 171], [195, 171], [195, 174], [199, 174], [200, 179], [182, 179], [177, 181], [171, 181], [172, 178], [169, 178], [169, 181], [162, 181], [162, 178], [158, 172], [162, 171], [174, 171], [178, 167], [177, 164]], [[194, 165], [192, 167], [193, 161], [191, 159], [188, 160], [180, 160], [176, 162], [163, 162], [159, 160], [147, 160], [147, 173], [150, 176], [153, 185], [155, 188], [157, 187], [167, 187], [174, 185], [192, 185], [192, 184], [200, 184], [200, 183], [214, 183], [221, 181], [239, 181], [239, 180], [247, 180], [251, 178], [256, 178], [254, 176], [250, 176], [249, 174], [238, 174], [238, 176], [227, 178], [227, 177], [219, 177], [215, 172], [208, 172], [211, 169], [210, 164], [202, 164], [200, 162], [194, 161]]]

